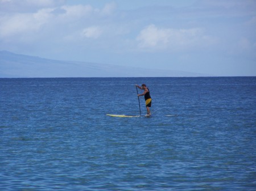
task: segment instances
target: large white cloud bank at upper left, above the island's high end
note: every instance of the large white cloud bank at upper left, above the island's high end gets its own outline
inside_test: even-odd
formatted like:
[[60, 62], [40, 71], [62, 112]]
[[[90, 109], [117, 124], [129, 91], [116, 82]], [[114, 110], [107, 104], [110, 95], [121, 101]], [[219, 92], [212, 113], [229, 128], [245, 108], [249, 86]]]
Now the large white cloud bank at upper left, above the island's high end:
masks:
[[[94, 9], [90, 5], [61, 5], [61, 0], [0, 0], [0, 40], [7, 38], [10, 41], [20, 39], [38, 39], [53, 36], [59, 40], [72, 36], [79, 39], [77, 33], [82, 36], [97, 39], [102, 33], [99, 27], [88, 27], [92, 23], [100, 22], [106, 16], [112, 14], [115, 3], [106, 4], [101, 10]], [[21, 5], [24, 3], [24, 5]], [[6, 5], [2, 11], [1, 7]], [[19, 11], [19, 7], [38, 7], [33, 11]], [[22, 8], [23, 7], [23, 8]], [[50, 7], [50, 8], [44, 8]], [[7, 12], [7, 10], [12, 10]], [[18, 10], [18, 11], [16, 11]], [[104, 18], [102, 18], [102, 15]], [[61, 32], [61, 33], [60, 33]]]

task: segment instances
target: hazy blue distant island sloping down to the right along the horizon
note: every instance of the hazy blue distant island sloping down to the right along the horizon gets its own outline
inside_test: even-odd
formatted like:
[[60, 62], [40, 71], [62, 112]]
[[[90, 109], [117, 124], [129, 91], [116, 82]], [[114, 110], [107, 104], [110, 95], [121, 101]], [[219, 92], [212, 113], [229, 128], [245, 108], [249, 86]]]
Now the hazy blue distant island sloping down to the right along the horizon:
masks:
[[143, 69], [104, 63], [59, 61], [0, 52], [0, 78], [206, 77], [176, 70]]

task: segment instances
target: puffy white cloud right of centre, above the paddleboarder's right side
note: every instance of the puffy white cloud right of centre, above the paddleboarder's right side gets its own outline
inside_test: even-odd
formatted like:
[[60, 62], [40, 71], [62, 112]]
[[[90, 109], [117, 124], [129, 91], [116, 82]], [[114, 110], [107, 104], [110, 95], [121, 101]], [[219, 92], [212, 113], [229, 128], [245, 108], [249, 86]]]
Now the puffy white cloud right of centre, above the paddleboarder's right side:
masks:
[[140, 49], [186, 49], [192, 46], [214, 44], [216, 39], [204, 34], [201, 28], [174, 29], [147, 26], [137, 36]]

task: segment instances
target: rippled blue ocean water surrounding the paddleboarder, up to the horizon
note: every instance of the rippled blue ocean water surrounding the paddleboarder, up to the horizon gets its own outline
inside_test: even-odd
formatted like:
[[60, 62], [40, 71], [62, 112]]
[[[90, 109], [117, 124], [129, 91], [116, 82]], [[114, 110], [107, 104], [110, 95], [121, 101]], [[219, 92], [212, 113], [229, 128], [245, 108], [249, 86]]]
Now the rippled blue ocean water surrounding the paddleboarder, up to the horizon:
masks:
[[[142, 83], [150, 118], [106, 116]], [[256, 190], [255, 77], [0, 79], [0, 107], [0, 190]]]

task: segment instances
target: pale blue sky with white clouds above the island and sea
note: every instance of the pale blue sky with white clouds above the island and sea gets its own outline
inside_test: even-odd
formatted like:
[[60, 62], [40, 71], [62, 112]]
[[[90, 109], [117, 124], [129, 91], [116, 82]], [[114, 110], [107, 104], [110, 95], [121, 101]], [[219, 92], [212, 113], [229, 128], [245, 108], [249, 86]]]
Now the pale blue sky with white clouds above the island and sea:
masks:
[[0, 50], [256, 76], [255, 10], [255, 0], [0, 0]]

